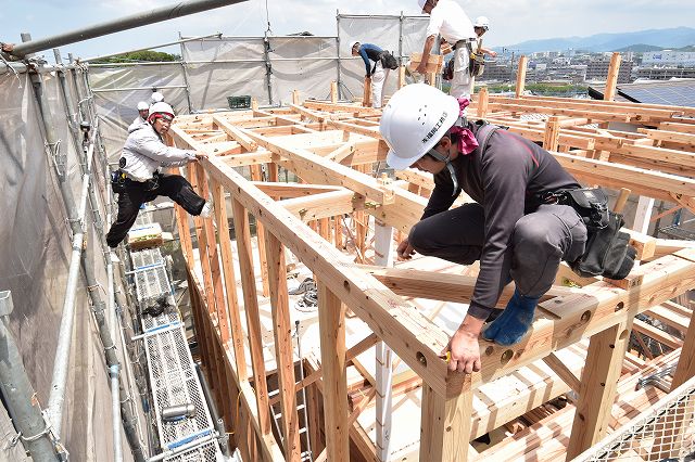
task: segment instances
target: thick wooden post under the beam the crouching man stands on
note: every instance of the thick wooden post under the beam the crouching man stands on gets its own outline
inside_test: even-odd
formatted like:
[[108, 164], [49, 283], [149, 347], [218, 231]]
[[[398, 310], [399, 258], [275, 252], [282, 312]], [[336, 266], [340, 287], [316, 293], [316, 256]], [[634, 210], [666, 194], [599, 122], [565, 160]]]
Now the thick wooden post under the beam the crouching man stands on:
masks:
[[607, 434], [631, 329], [632, 319], [629, 319], [591, 337], [567, 460], [581, 454]]

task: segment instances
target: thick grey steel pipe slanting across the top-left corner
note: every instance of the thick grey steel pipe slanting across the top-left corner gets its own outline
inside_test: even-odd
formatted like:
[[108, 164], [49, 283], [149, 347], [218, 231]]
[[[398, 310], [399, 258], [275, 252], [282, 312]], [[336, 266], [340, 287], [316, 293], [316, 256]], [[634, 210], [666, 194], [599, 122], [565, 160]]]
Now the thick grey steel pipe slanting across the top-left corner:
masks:
[[51, 37], [46, 37], [38, 40], [33, 40], [25, 43], [20, 43], [14, 47], [11, 53], [14, 56], [24, 57], [27, 54], [36, 53], [37, 51], [48, 50], [54, 47], [62, 47], [68, 43], [75, 43], [83, 40], [88, 40], [96, 37], [105, 36], [113, 33], [119, 33], [123, 30], [132, 29], [135, 27], [146, 26], [148, 24], [154, 24], [162, 21], [173, 20], [175, 17], [187, 16], [193, 13], [200, 13], [202, 11], [213, 10], [215, 8], [227, 7], [233, 3], [240, 3], [245, 0], [192, 0], [181, 1], [176, 4], [170, 4], [154, 10], [146, 11], [142, 13], [131, 14], [118, 20], [109, 21], [101, 24], [94, 24], [89, 27], [84, 27], [76, 30], [71, 30], [64, 34], [59, 34]]

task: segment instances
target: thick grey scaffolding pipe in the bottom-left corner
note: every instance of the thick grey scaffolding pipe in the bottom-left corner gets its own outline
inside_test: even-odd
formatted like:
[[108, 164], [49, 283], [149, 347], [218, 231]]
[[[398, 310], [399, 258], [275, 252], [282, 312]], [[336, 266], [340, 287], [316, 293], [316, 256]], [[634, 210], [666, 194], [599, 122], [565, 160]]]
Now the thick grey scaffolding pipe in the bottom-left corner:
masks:
[[24, 362], [5, 318], [12, 312], [12, 294], [0, 292], [0, 390], [14, 427], [21, 435], [24, 449], [35, 461], [58, 461], [55, 447], [46, 432], [46, 421], [34, 387], [24, 369]]

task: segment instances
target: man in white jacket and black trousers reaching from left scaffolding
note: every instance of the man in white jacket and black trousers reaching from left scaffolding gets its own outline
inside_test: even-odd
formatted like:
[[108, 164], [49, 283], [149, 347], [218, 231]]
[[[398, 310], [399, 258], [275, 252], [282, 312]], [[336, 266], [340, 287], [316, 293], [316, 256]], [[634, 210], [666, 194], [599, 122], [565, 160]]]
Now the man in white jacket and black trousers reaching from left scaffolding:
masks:
[[118, 194], [118, 215], [106, 234], [110, 247], [116, 247], [138, 217], [140, 206], [159, 195], [166, 195], [191, 215], [208, 217], [212, 205], [195, 194], [186, 178], [160, 174], [160, 167], [176, 167], [207, 157], [202, 151], [188, 151], [164, 144], [163, 137], [174, 120], [174, 110], [166, 103], [154, 103], [148, 120], [130, 132], [112, 178]]

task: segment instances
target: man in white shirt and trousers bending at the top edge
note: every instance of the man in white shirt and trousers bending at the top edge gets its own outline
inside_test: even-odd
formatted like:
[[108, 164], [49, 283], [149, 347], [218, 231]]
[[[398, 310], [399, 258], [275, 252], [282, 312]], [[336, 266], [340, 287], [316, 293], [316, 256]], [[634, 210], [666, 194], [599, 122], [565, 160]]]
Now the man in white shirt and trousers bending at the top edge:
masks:
[[438, 35], [455, 50], [454, 77], [450, 94], [470, 99], [470, 73], [468, 70], [471, 42], [476, 40], [473, 25], [464, 10], [454, 0], [418, 0], [422, 13], [430, 15], [427, 39], [422, 47], [422, 61], [416, 72], [426, 74], [427, 61]]

